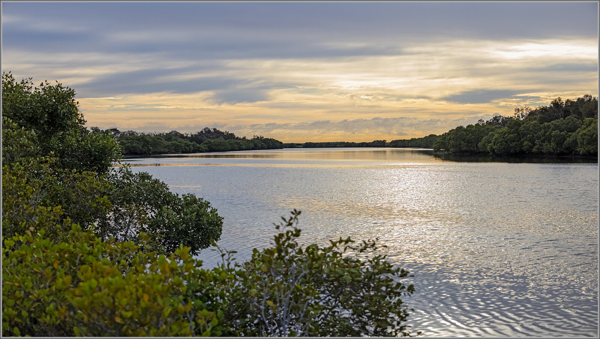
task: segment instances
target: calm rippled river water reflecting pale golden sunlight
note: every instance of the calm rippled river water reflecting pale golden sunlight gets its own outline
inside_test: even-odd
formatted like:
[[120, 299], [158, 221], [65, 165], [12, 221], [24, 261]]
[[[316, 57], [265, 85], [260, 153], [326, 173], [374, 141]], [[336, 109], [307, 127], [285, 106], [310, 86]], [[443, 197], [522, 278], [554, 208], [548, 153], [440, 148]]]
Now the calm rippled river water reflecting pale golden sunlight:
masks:
[[[403, 149], [284, 149], [128, 159], [225, 217], [248, 259], [302, 210], [301, 240], [380, 238], [430, 336], [598, 334], [598, 164], [448, 158]], [[564, 161], [560, 159], [559, 161]], [[215, 252], [199, 258], [214, 265]]]

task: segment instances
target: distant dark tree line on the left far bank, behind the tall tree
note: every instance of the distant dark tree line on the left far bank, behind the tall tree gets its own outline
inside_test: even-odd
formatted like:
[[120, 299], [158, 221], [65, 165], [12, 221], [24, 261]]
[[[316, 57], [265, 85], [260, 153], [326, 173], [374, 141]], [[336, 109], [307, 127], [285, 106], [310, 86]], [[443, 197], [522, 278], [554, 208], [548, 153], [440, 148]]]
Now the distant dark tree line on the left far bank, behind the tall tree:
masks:
[[92, 127], [91, 131], [112, 134], [123, 155], [283, 149], [281, 141], [262, 135], [254, 135], [252, 139], [240, 138], [232, 132], [208, 127], [194, 134], [174, 130], [166, 133], [119, 131], [116, 128], [102, 130], [97, 127]]

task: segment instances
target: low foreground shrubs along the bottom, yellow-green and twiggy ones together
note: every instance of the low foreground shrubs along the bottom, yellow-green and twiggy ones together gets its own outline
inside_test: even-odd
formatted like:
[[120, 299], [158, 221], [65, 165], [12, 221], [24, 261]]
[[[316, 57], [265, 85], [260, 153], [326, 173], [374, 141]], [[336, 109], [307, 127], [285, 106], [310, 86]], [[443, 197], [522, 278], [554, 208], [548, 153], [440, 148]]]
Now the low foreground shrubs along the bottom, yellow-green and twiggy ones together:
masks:
[[410, 335], [401, 325], [409, 313], [400, 298], [413, 292], [399, 282], [407, 272], [373, 255], [374, 241], [299, 246], [299, 211], [274, 247], [241, 264], [221, 252], [211, 270], [189, 247], [165, 256], [144, 250], [145, 234], [140, 245], [101, 241], [69, 219], [58, 225], [60, 214], [44, 210], [4, 239], [3, 335]]

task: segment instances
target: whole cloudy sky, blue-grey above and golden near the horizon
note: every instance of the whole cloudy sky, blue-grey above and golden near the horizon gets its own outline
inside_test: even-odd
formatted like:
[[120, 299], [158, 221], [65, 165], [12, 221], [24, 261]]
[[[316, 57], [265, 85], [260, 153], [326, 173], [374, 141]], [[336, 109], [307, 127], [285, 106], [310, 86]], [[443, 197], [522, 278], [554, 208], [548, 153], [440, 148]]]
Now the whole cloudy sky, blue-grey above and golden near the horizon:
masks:
[[598, 96], [598, 3], [2, 2], [2, 71], [103, 129], [391, 141]]

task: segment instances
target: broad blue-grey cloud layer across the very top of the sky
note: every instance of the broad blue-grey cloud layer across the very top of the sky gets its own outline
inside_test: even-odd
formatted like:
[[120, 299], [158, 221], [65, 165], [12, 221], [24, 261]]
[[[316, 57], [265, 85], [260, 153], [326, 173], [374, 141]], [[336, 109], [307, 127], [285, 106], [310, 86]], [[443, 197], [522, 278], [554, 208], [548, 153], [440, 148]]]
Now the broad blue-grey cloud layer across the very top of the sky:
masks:
[[[593, 2], [4, 2], [3, 43], [28, 49], [169, 52], [186, 57], [398, 53], [406, 41], [596, 37]], [[565, 16], [562, 13], [577, 13]], [[81, 33], [66, 33], [65, 27]], [[154, 39], [118, 41], [115, 33]], [[178, 42], [180, 35], [185, 38]], [[55, 41], [69, 41], [56, 44]], [[341, 48], [331, 43], [354, 43]], [[386, 47], [387, 46], [387, 47]], [[175, 52], [177, 51], [177, 52]]]

